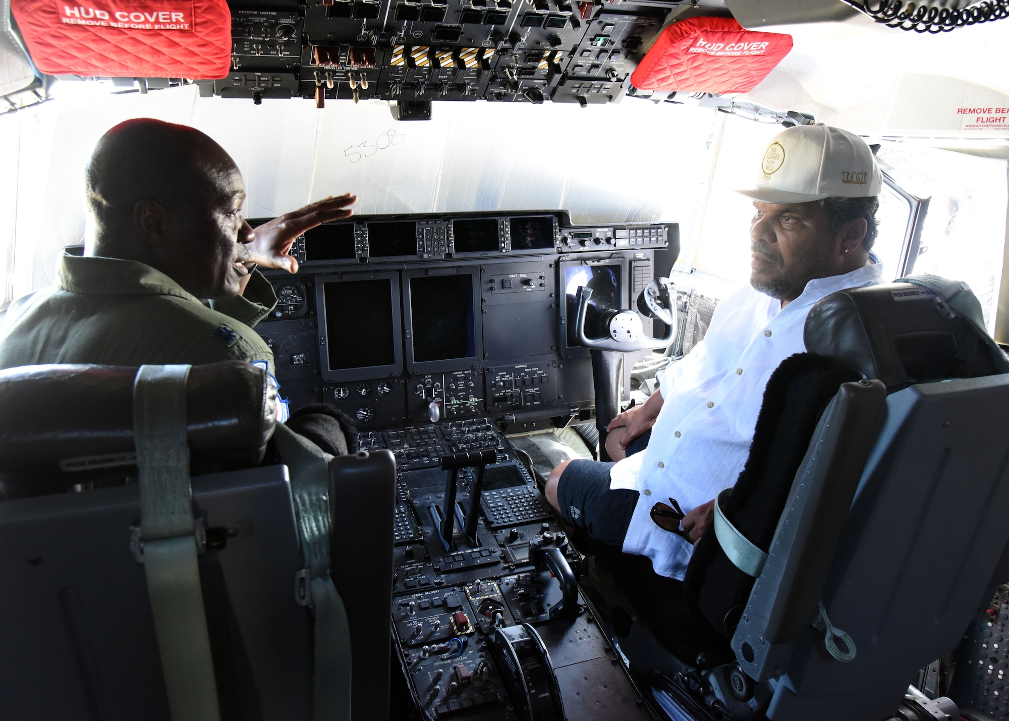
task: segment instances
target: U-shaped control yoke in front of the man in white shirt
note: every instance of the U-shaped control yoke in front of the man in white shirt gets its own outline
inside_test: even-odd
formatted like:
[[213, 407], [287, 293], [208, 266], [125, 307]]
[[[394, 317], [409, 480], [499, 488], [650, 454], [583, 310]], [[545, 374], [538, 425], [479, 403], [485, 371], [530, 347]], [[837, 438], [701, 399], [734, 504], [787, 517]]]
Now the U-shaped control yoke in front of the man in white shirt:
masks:
[[592, 289], [582, 286], [578, 289], [578, 313], [574, 319], [578, 342], [593, 350], [613, 350], [620, 353], [655, 350], [668, 346], [676, 336], [676, 324], [673, 322], [672, 312], [672, 296], [675, 290], [676, 287], [668, 278], [658, 278], [649, 283], [638, 297], [638, 310], [642, 315], [656, 318], [666, 324], [667, 330], [663, 337], [653, 338], [645, 335], [641, 317], [633, 310], [603, 311], [595, 323], [595, 330], [605, 335], [589, 337], [585, 332], [585, 317], [588, 314]]

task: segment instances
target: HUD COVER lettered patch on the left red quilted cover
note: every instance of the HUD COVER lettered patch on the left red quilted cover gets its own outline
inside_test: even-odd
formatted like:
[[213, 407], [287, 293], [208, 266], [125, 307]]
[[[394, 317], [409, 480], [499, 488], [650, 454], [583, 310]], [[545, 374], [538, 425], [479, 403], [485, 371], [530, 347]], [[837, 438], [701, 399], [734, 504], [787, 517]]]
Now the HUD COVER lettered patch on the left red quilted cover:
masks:
[[67, 25], [116, 27], [127, 30], [193, 30], [193, 3], [175, 0], [101, 0], [57, 2], [60, 21]]

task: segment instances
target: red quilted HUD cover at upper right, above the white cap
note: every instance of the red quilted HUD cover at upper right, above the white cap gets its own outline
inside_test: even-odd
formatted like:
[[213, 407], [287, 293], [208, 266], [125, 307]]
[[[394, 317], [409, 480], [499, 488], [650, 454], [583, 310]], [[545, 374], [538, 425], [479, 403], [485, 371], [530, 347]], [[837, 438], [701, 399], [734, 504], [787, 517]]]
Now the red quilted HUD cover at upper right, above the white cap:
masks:
[[745, 93], [792, 49], [792, 36], [744, 29], [731, 17], [670, 23], [631, 75], [641, 90]]

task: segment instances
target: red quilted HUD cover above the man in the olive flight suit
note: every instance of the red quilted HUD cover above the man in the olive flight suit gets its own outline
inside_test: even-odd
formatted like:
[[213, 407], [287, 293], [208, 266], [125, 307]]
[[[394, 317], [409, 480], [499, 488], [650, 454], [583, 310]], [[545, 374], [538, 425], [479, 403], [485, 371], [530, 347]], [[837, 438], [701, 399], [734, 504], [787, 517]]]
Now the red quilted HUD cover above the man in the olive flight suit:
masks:
[[219, 79], [231, 62], [225, 0], [11, 0], [49, 75]]

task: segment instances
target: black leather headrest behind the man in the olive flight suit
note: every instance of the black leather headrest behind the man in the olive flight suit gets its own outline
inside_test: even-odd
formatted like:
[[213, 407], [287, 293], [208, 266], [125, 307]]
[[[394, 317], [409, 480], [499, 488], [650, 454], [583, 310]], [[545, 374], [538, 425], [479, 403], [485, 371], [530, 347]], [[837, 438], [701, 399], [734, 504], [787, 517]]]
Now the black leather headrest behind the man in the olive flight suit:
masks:
[[[0, 499], [136, 476], [136, 368], [0, 371]], [[276, 387], [239, 360], [194, 366], [186, 384], [194, 476], [254, 467], [276, 422]]]

